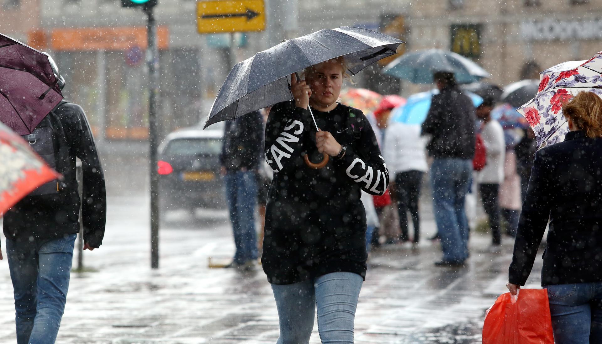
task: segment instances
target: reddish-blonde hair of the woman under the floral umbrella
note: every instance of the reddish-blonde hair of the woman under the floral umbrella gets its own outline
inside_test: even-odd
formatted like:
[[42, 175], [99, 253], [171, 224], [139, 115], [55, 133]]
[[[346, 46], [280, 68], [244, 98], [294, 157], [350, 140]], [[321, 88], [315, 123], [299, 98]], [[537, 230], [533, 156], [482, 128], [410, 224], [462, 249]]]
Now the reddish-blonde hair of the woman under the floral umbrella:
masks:
[[588, 137], [602, 137], [602, 99], [595, 93], [577, 93], [563, 105], [562, 114]]

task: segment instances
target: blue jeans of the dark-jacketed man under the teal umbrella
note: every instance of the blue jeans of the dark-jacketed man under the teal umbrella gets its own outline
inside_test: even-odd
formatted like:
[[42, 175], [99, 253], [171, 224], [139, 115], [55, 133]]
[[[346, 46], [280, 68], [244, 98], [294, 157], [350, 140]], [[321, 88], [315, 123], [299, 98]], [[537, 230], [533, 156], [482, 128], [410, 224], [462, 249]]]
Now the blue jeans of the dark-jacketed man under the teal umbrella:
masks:
[[430, 167], [433, 210], [444, 261], [461, 262], [468, 258], [468, 219], [464, 201], [470, 187], [471, 171], [471, 161], [459, 158], [437, 158]]

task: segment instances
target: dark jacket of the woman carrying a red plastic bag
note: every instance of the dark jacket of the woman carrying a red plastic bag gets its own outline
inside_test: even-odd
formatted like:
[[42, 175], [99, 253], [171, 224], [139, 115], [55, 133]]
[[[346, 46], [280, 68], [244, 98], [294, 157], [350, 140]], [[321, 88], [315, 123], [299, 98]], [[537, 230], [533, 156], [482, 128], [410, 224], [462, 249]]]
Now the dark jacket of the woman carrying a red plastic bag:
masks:
[[570, 131], [539, 149], [508, 281], [524, 286], [550, 219], [541, 285], [602, 281], [602, 138]]

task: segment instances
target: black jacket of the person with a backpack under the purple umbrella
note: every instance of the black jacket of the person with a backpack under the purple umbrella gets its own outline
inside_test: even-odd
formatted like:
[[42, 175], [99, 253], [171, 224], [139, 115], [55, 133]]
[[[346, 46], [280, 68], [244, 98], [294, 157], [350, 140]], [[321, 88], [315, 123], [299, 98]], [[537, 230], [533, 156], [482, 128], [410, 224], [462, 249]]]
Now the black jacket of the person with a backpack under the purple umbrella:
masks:
[[56, 170], [63, 175], [59, 192], [25, 196], [4, 215], [4, 235], [13, 240], [49, 240], [79, 232], [76, 158], [82, 163], [84, 241], [98, 248], [107, 216], [105, 179], [84, 110], [61, 102], [48, 114], [58, 148]]

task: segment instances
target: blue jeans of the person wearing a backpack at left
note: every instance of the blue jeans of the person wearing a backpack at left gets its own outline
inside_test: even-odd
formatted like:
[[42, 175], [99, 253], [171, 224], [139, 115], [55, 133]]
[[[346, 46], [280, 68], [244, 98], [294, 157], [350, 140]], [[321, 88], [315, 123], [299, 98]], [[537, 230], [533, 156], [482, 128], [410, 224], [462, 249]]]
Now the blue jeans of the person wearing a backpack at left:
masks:
[[43, 242], [6, 240], [17, 344], [54, 343], [67, 301], [76, 234]]

